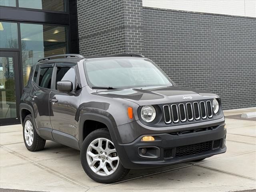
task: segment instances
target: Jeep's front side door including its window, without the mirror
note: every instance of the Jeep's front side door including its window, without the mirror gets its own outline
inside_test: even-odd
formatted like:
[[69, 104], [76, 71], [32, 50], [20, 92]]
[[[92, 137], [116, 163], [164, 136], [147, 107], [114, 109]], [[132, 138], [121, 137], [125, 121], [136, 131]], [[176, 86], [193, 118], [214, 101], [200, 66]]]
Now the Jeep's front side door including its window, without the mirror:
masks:
[[[72, 82], [72, 92], [58, 92], [56, 90], [58, 81]], [[80, 92], [77, 66], [69, 63], [56, 63], [54, 70], [54, 89], [50, 93], [50, 120], [54, 129], [52, 132], [53, 138], [58, 142], [63, 143], [62, 136], [65, 136], [65, 138], [69, 137], [70, 140], [78, 140], [78, 119], [76, 118], [76, 112], [81, 100]]]

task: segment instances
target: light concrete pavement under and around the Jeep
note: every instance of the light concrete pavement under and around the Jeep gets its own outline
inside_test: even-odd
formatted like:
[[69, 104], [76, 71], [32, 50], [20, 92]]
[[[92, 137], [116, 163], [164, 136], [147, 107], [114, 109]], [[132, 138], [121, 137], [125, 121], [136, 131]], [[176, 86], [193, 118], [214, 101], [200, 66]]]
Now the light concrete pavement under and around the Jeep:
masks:
[[[256, 108], [228, 110], [225, 116], [254, 111]], [[130, 170], [123, 181], [115, 184], [100, 184], [88, 178], [80, 164], [79, 151], [47, 141], [44, 150], [29, 152], [23, 143], [21, 125], [2, 126], [0, 187], [50, 192], [256, 189], [256, 121], [226, 118], [226, 126], [225, 154], [194, 164]]]

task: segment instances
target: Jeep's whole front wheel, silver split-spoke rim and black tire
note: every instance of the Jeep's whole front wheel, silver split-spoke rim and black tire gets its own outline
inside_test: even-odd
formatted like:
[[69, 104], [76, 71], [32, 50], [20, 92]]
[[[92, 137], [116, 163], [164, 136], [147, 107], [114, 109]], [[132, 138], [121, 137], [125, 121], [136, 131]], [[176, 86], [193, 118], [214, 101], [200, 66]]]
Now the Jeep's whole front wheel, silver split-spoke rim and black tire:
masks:
[[100, 183], [113, 183], [129, 172], [120, 162], [108, 129], [91, 132], [84, 140], [80, 152], [86, 174]]

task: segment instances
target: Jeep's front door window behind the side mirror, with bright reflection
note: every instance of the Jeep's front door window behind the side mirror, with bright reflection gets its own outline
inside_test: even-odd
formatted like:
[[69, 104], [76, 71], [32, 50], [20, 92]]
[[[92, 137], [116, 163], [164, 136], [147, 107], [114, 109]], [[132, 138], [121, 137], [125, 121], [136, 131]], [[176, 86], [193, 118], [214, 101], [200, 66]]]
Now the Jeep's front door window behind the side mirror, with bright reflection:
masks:
[[58, 81], [71, 81], [73, 89], [76, 85], [76, 74], [74, 68], [70, 67], [57, 67], [56, 73], [56, 88]]

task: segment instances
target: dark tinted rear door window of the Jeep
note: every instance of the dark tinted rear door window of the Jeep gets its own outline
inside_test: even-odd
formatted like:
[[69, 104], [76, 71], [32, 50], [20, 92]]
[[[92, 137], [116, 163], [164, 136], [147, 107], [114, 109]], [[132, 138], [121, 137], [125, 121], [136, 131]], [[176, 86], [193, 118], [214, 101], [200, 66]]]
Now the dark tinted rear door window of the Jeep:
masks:
[[53, 67], [41, 68], [38, 85], [44, 88], [51, 88]]

